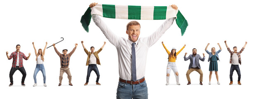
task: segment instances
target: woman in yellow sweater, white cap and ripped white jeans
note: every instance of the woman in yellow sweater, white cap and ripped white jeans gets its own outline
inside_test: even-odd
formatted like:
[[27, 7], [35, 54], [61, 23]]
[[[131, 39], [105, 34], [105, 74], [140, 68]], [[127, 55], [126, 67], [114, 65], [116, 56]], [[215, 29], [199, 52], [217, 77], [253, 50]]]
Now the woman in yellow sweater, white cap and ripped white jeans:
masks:
[[[162, 42], [163, 44], [163, 42]], [[179, 83], [179, 73], [178, 73], [178, 69], [177, 69], [177, 66], [176, 66], [176, 59], [177, 59], [177, 56], [178, 54], [185, 48], [186, 45], [184, 45], [180, 50], [179, 52], [176, 52], [176, 48], [173, 47], [172, 48], [172, 51], [169, 52], [169, 50], [167, 50], [167, 48], [165, 47], [165, 45], [163, 44], [163, 47], [165, 48], [166, 52], [168, 53], [169, 57], [168, 57], [168, 64], [167, 64], [167, 73], [166, 73], [166, 84], [165, 85], [169, 85], [169, 79], [170, 79], [170, 73], [171, 73], [171, 70], [173, 71], [173, 73], [175, 74], [175, 78], [176, 78], [176, 82], [177, 82], [177, 85], [180, 85]]]

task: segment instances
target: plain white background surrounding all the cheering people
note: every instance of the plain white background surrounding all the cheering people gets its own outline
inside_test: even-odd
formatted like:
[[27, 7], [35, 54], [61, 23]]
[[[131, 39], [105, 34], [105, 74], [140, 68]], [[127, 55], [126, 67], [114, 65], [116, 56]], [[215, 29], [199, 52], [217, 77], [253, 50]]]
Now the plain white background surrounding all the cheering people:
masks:
[[[0, 99], [115, 99], [118, 83], [118, 62], [115, 47], [105, 38], [100, 29], [91, 21], [89, 33], [84, 31], [80, 19], [91, 2], [110, 5], [142, 5], [142, 6], [169, 6], [175, 4], [187, 19], [189, 26], [183, 36], [180, 29], [174, 23], [165, 34], [148, 51], [146, 64], [146, 82], [148, 86], [148, 98], [173, 98], [173, 99], [216, 99], [228, 97], [232, 99], [252, 98], [255, 94], [255, 3], [253, 0], [4, 0], [0, 2]], [[102, 18], [102, 17], [101, 17]], [[125, 33], [126, 24], [131, 20], [102, 18], [116, 35], [127, 37]], [[164, 20], [137, 20], [141, 24], [140, 37], [151, 35]], [[72, 84], [68, 85], [66, 73], [63, 75], [62, 86], [59, 83], [60, 59], [53, 47], [45, 51], [46, 84], [43, 87], [43, 76], [39, 71], [37, 74], [38, 86], [33, 87], [33, 72], [36, 67], [36, 56], [32, 42], [36, 49], [43, 49], [45, 42], [48, 46], [64, 38], [64, 41], [56, 45], [60, 52], [68, 49], [70, 52], [74, 44], [78, 43], [77, 50], [70, 59], [69, 68], [72, 74]], [[128, 39], [128, 37], [127, 37]], [[81, 40], [87, 49], [94, 46], [100, 49], [103, 42], [106, 45], [99, 53], [101, 66], [100, 86], [95, 84], [96, 74], [91, 73], [89, 85], [84, 86], [88, 66], [85, 66], [87, 55], [81, 45]], [[233, 85], [230, 82], [230, 53], [227, 51], [224, 41], [232, 47], [237, 46], [238, 51], [242, 49], [245, 41], [248, 42], [244, 52], [241, 54], [242, 65], [239, 65], [242, 85], [237, 85], [237, 73], [234, 71]], [[165, 43], [168, 50], [176, 47], [177, 50], [184, 44], [187, 46], [177, 56], [176, 64], [179, 71], [179, 82], [176, 85], [175, 76], [170, 75], [170, 85], [166, 86], [167, 53], [161, 41]], [[220, 85], [217, 85], [215, 74], [212, 75], [212, 85], [209, 81], [208, 54], [204, 62], [200, 61], [203, 71], [203, 85], [199, 85], [199, 74], [192, 72], [191, 85], [187, 85], [186, 72], [189, 61], [184, 61], [185, 52], [188, 55], [196, 48], [197, 53], [202, 56], [207, 43], [211, 47], [219, 49], [220, 43], [223, 51], [220, 52], [218, 61], [218, 75]], [[21, 52], [26, 56], [31, 53], [29, 60], [24, 60], [26, 70], [26, 87], [21, 86], [22, 74], [16, 71], [13, 75], [14, 85], [9, 87], [9, 73], [12, 59], [8, 60], [6, 51], [14, 52], [15, 46], [21, 45]], [[188, 56], [187, 55], [187, 56]], [[252, 89], [252, 90], [250, 90]]]

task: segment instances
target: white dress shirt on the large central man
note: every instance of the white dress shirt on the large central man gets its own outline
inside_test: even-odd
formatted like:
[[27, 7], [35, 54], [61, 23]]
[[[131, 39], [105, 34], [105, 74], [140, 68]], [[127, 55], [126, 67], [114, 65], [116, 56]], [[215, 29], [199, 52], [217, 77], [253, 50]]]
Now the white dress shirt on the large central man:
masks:
[[[132, 80], [132, 41], [115, 35], [98, 15], [92, 15], [94, 23], [100, 28], [105, 37], [117, 48], [119, 77], [124, 80]], [[159, 40], [159, 38], [170, 28], [175, 18], [166, 21], [150, 36], [139, 38], [136, 41], [136, 78], [141, 79], [145, 75], [148, 48]]]

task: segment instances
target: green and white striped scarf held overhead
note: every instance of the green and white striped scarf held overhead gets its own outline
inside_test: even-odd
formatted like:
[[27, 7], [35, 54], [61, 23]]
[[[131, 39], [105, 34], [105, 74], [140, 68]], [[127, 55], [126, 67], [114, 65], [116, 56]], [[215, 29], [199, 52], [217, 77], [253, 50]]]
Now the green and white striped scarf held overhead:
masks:
[[181, 29], [182, 35], [188, 26], [187, 20], [179, 12], [170, 6], [124, 6], [124, 5], [100, 5], [88, 8], [81, 17], [81, 24], [86, 32], [89, 32], [91, 15], [97, 14], [113, 19], [139, 19], [139, 20], [161, 20], [176, 17], [176, 24]]

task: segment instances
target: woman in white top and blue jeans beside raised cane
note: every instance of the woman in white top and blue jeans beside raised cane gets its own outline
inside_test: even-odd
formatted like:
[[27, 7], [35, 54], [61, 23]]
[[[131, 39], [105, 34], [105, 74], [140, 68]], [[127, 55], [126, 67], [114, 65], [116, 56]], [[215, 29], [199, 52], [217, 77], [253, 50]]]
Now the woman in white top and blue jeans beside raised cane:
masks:
[[39, 49], [38, 50], [38, 53], [36, 52], [36, 47], [34, 45], [34, 42], [33, 42], [33, 47], [35, 49], [35, 54], [36, 54], [36, 69], [35, 69], [35, 72], [34, 72], [34, 81], [35, 81], [35, 84], [33, 85], [33, 87], [37, 86], [37, 83], [36, 83], [36, 75], [38, 73], [38, 71], [41, 71], [43, 73], [43, 86], [47, 86], [45, 84], [45, 80], [46, 80], [46, 75], [45, 75], [45, 68], [43, 66], [43, 61], [44, 61], [44, 54], [45, 54], [45, 49], [46, 49], [46, 46], [47, 46], [47, 42], [45, 44], [45, 47], [42, 51], [42, 49]]

